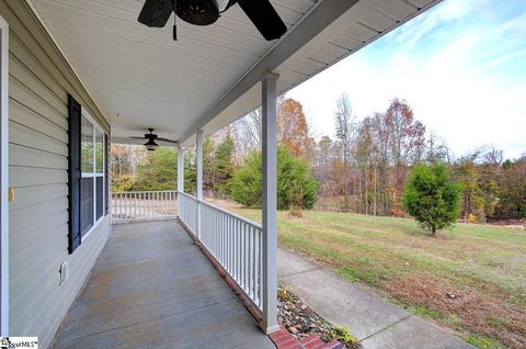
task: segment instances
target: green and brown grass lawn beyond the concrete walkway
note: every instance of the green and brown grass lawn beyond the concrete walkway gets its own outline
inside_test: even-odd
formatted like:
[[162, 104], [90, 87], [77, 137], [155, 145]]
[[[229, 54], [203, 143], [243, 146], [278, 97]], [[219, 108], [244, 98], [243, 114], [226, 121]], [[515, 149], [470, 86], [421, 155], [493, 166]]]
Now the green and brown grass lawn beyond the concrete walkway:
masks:
[[[228, 210], [261, 221], [260, 211]], [[412, 219], [279, 212], [278, 239], [477, 347], [526, 347], [523, 228], [457, 224], [434, 238]]]

